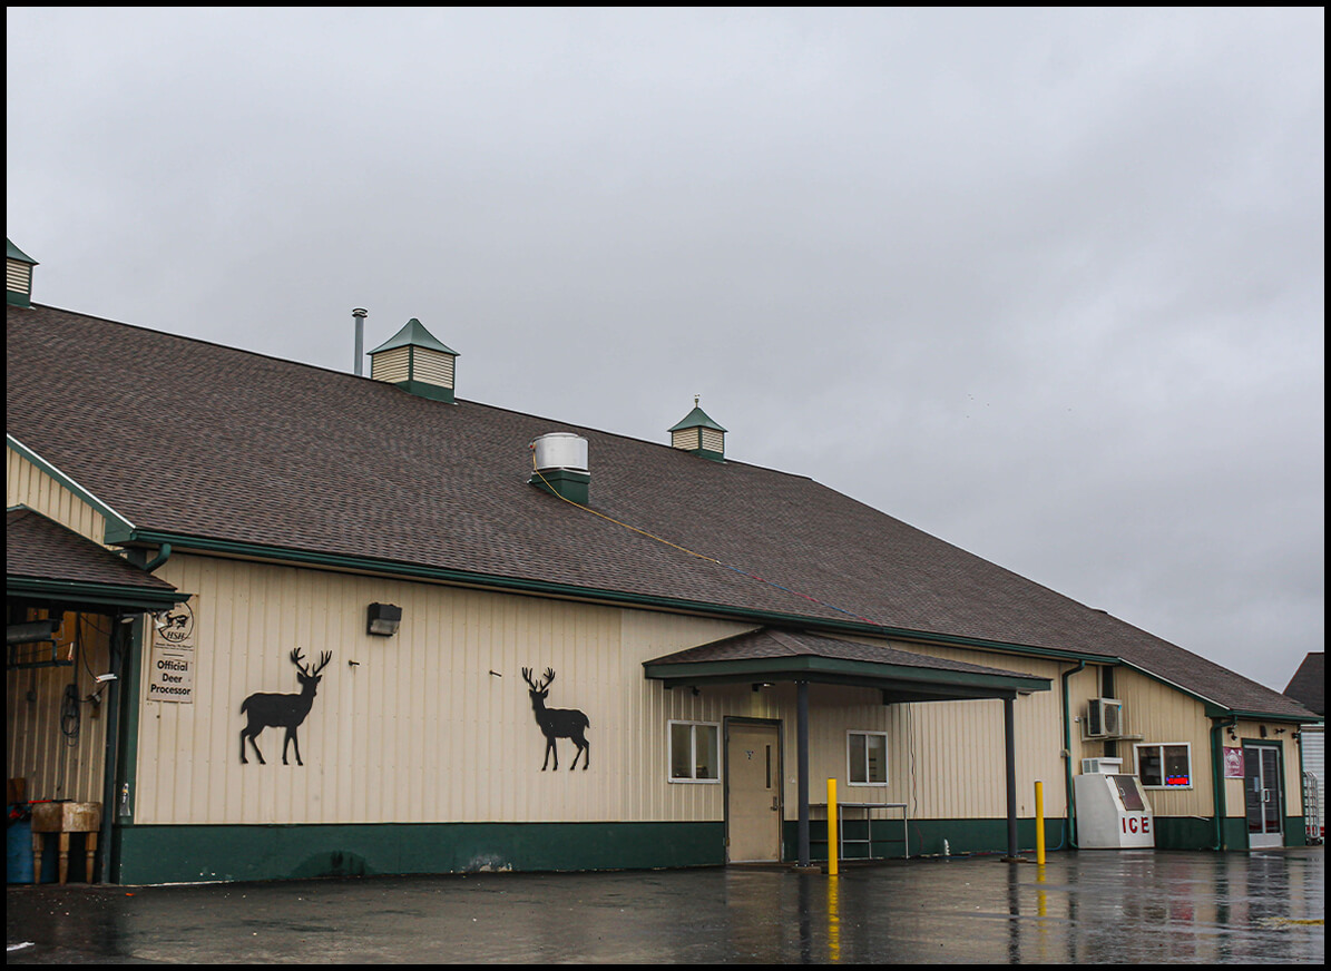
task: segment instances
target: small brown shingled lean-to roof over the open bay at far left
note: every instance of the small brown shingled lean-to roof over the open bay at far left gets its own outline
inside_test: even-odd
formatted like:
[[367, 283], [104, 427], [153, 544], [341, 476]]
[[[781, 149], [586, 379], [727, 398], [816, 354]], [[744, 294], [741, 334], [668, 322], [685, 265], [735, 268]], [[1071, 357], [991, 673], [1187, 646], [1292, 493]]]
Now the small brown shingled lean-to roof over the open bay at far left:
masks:
[[148, 609], [184, 599], [165, 580], [25, 507], [5, 513], [4, 559], [7, 593], [15, 596]]

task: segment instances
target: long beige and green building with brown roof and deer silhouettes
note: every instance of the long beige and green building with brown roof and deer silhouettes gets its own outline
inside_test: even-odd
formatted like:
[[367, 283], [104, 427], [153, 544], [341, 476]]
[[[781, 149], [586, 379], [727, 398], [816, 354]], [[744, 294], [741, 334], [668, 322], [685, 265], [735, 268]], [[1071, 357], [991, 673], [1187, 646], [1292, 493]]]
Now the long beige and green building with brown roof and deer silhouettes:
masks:
[[700, 408], [570, 427], [457, 398], [418, 321], [361, 378], [32, 303], [9, 261], [11, 775], [104, 802], [110, 879], [816, 858], [829, 777], [892, 806], [878, 854], [1029, 846], [1036, 779], [1070, 846], [1105, 758], [1158, 846], [1303, 838], [1298, 702]]

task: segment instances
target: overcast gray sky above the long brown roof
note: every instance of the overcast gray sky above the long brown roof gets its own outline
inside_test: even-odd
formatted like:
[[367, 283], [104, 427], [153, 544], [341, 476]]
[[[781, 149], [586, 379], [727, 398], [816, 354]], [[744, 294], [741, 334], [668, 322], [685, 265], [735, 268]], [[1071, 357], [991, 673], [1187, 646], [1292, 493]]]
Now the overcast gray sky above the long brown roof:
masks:
[[[7, 12], [35, 299], [809, 475], [1283, 689], [1324, 12]], [[592, 456], [595, 460], [595, 456]]]

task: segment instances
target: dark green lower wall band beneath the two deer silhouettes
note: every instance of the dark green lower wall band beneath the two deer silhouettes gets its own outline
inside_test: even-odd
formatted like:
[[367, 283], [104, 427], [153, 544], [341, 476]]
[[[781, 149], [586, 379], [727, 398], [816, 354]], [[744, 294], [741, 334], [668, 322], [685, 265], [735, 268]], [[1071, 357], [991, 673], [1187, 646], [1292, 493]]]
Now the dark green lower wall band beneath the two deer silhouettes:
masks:
[[720, 866], [721, 822], [120, 826], [117, 882]]

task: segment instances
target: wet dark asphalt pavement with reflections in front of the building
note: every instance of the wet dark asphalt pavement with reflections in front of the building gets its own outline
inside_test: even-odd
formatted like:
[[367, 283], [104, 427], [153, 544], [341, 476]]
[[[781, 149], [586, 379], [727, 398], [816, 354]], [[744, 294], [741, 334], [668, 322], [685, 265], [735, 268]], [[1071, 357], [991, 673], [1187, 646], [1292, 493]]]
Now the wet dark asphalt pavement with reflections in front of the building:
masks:
[[[1324, 853], [9, 887], [8, 963], [1310, 963]], [[16, 944], [28, 944], [15, 950]]]

